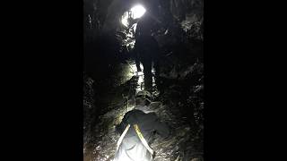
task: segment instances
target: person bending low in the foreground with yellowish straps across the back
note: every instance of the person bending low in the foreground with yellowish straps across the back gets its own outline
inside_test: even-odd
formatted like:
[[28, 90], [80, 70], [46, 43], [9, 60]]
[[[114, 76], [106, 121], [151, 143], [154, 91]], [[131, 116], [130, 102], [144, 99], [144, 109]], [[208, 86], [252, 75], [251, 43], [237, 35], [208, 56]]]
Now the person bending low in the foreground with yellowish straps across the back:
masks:
[[[170, 130], [157, 115], [148, 110], [144, 98], [136, 99], [135, 109], [125, 114], [116, 131], [121, 134], [113, 161], [152, 161], [154, 152], [149, 144], [154, 132], [168, 138]], [[121, 139], [122, 138], [122, 139]]]

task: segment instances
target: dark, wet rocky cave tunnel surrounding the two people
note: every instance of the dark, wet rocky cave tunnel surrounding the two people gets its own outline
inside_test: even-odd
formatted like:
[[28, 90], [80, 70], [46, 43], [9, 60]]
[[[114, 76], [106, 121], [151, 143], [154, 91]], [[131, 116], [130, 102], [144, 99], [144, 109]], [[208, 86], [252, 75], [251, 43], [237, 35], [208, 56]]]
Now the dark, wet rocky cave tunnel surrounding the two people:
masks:
[[[152, 44], [143, 39], [136, 48], [139, 4], [156, 21], [149, 31], [159, 69], [152, 68], [148, 92], [144, 61], [142, 72], [136, 68], [136, 52]], [[149, 141], [153, 160], [204, 160], [203, 0], [84, 0], [83, 12], [83, 160], [114, 159], [116, 126], [138, 97], [170, 129], [168, 139], [155, 133]]]

